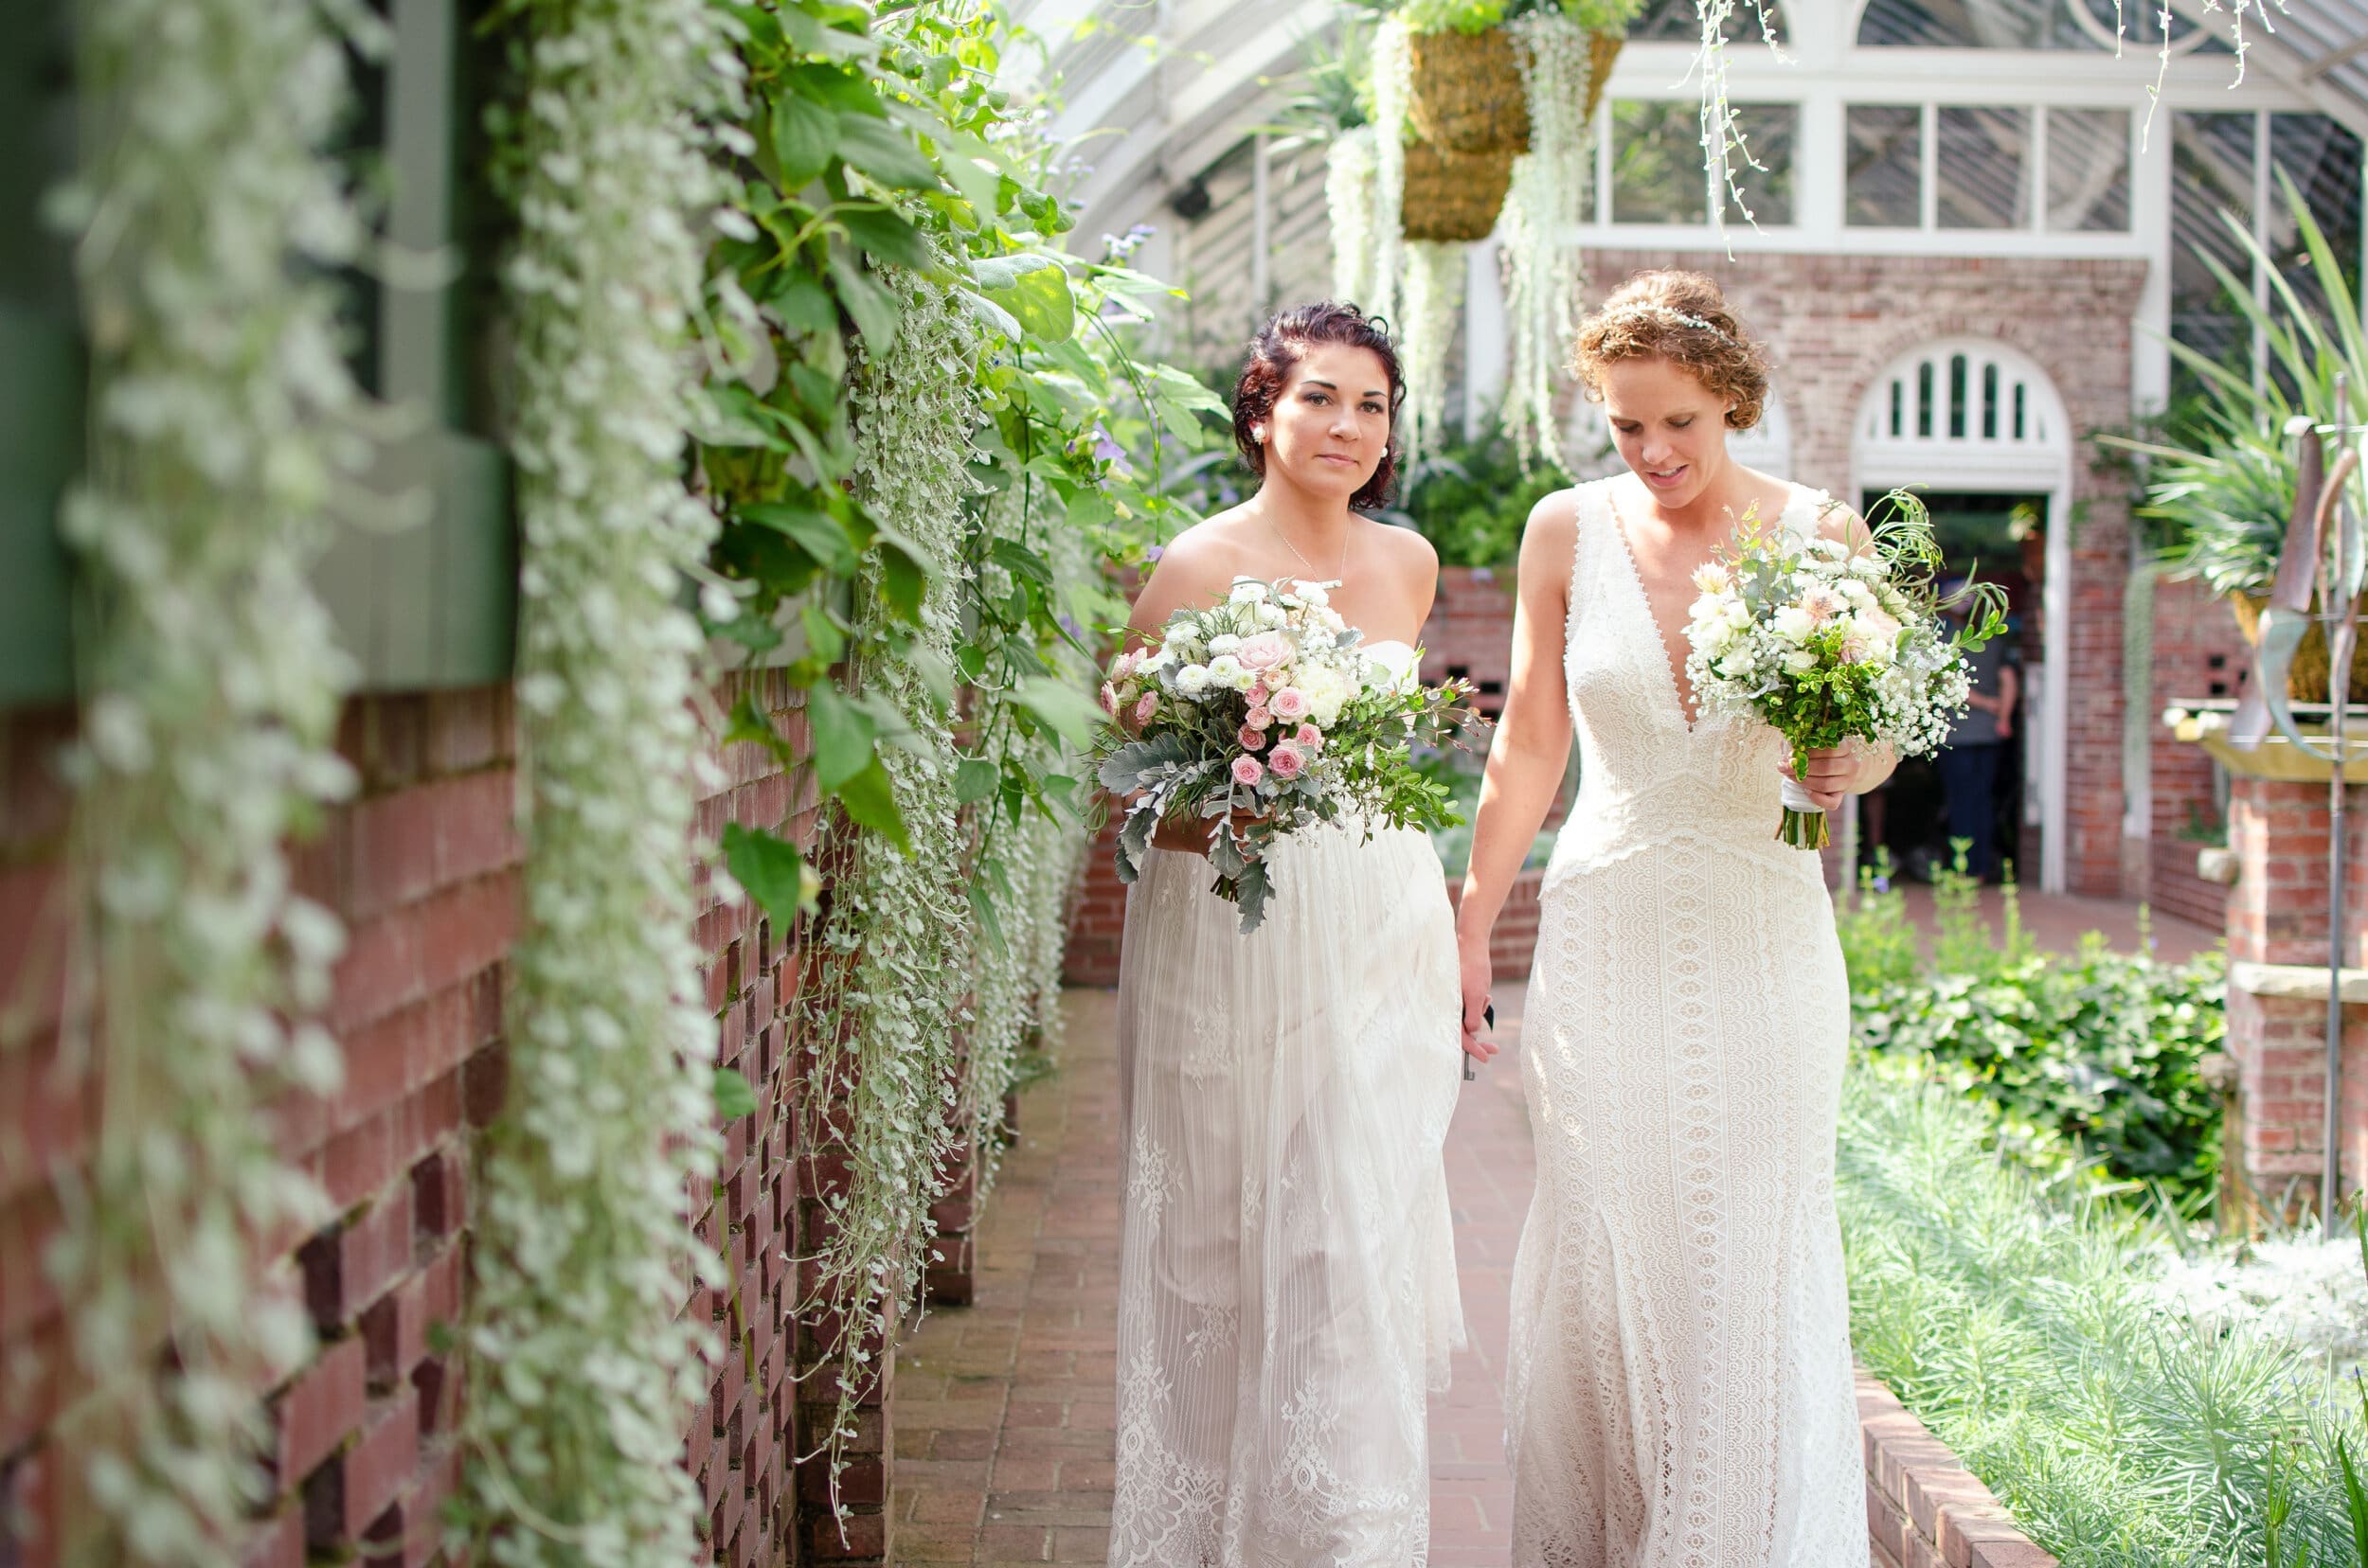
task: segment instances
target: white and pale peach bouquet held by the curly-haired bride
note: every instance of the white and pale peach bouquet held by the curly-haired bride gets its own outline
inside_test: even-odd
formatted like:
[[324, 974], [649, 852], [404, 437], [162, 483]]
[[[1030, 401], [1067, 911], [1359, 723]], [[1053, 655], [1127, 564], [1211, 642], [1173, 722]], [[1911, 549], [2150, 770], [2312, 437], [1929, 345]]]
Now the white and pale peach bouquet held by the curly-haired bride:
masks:
[[[1800, 538], [1743, 514], [1733, 547], [1693, 573], [1700, 597], [1686, 621], [1686, 680], [1705, 708], [1755, 713], [1809, 751], [1845, 739], [1887, 741], [1902, 756], [1935, 751], [1965, 711], [1965, 649], [2006, 630], [2006, 592], [1975, 583], [1954, 599], [1935, 590], [1942, 564], [1932, 519], [1906, 490], [1878, 505], [1864, 550]], [[1949, 632], [1939, 613], [1963, 602]], [[1802, 850], [1830, 841], [1826, 812], [1783, 782], [1776, 838]]]

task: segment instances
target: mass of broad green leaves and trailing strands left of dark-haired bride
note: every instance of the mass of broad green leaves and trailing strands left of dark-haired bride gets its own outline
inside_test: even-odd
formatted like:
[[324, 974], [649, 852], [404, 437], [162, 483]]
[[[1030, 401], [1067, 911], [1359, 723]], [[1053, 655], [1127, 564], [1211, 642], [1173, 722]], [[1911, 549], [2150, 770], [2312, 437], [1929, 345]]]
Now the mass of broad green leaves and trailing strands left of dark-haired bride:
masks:
[[[1141, 559], [1189, 516], [1172, 457], [1220, 405], [1127, 351], [1158, 287], [1047, 249], [1068, 216], [1028, 109], [992, 88], [995, 14], [744, 21], [753, 149], [715, 253], [699, 474], [722, 519], [710, 630], [786, 673], [810, 732], [793, 746], [741, 703], [727, 739], [810, 770], [829, 803], [791, 1142], [831, 1215], [798, 1312], [834, 1334], [810, 1376], [841, 1395], [817, 1433], [836, 1466], [947, 1156], [992, 1158], [1044, 1018], [1066, 905], [1047, 879], [1080, 838], [1068, 746], [1096, 720], [1082, 635], [1122, 616], [1089, 564]], [[734, 836], [781, 928], [817, 879], [758, 872], [796, 860], [772, 831]]]

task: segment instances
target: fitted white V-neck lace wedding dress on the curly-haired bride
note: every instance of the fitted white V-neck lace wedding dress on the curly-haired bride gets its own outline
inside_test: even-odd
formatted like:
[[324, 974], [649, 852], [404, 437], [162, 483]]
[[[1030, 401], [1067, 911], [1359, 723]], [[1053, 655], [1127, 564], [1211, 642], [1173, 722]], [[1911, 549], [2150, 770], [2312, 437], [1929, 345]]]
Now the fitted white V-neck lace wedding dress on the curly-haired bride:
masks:
[[1774, 838], [1776, 732], [1686, 722], [1608, 483], [1579, 488], [1563, 670], [1582, 784], [1523, 1033], [1513, 1566], [1861, 1568], [1833, 905]]

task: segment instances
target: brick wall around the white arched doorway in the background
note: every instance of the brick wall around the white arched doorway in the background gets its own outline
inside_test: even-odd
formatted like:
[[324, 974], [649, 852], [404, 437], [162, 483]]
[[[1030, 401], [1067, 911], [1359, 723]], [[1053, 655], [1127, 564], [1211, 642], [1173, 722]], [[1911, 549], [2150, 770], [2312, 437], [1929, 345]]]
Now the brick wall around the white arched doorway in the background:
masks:
[[[2129, 322], [2145, 282], [2136, 261], [1956, 256], [1743, 256], [1589, 251], [1591, 291], [1641, 268], [1714, 275], [1767, 341], [1793, 426], [1793, 478], [1847, 495], [1849, 431], [1873, 379], [1897, 355], [1942, 336], [2010, 343], [2055, 381], [2074, 438], [2129, 422]], [[2129, 507], [2122, 481], [2074, 457], [2072, 701], [2067, 713], [2065, 855], [2072, 893], [2119, 895], [2122, 850], [2122, 580]], [[2070, 526], [2072, 519], [2055, 519]], [[2036, 587], [2036, 585], [2034, 585]]]

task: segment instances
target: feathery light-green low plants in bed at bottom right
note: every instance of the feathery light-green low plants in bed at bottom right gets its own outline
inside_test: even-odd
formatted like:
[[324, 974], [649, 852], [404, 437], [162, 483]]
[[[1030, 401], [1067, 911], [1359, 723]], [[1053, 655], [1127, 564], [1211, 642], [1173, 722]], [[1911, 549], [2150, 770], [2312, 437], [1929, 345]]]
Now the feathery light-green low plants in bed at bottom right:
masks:
[[1854, 1063], [1838, 1208], [1852, 1345], [2067, 1568], [2354, 1561], [2340, 1386], [2160, 1289], [2174, 1239], [2008, 1158], [1913, 1059]]

